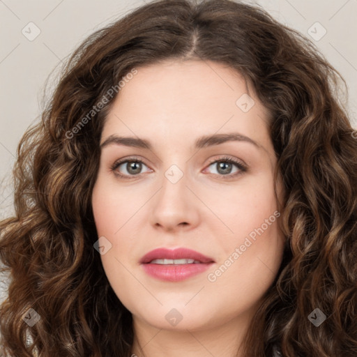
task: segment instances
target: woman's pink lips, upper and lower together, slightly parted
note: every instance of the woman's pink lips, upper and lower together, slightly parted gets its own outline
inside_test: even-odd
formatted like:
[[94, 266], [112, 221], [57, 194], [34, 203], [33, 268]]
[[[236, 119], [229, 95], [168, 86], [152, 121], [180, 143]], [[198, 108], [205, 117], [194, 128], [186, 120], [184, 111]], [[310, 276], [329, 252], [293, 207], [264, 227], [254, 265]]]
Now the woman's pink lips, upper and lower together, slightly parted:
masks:
[[[195, 264], [151, 264], [153, 259], [194, 259], [200, 261]], [[151, 250], [140, 259], [140, 264], [145, 273], [153, 278], [169, 282], [179, 282], [206, 271], [215, 261], [195, 250], [188, 248], [158, 248]]]

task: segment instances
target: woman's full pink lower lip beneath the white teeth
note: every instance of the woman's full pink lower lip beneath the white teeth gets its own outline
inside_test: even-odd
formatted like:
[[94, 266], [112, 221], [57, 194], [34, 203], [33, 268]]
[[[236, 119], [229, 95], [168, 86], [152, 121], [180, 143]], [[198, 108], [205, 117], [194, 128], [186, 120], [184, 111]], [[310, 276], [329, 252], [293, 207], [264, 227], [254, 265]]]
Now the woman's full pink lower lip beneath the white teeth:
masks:
[[199, 264], [142, 264], [146, 274], [167, 282], [179, 282], [206, 271], [213, 263]]

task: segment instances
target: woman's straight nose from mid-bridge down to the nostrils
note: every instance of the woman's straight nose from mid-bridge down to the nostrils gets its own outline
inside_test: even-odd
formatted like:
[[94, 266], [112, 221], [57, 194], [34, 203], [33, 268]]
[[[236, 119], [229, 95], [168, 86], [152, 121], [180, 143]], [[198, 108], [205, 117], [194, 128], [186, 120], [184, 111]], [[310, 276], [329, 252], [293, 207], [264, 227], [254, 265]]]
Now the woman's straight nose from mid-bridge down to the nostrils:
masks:
[[[169, 177], [169, 176], [168, 176]], [[162, 179], [162, 186], [151, 200], [151, 225], [156, 229], [176, 231], [193, 229], [199, 223], [199, 204], [186, 175], [179, 181]]]

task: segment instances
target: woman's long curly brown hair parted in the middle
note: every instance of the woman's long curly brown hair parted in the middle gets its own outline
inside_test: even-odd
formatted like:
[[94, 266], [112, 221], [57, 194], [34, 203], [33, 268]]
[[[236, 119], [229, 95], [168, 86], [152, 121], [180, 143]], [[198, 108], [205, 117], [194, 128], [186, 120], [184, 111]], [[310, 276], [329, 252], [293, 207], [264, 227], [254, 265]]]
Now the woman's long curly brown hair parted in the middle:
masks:
[[[165, 59], [233, 68], [271, 114], [286, 245], [243, 355], [356, 357], [357, 140], [335, 90], [344, 80], [300, 33], [231, 0], [155, 0], [93, 33], [66, 62], [17, 147], [15, 217], [0, 222], [10, 276], [3, 354], [130, 356], [132, 315], [93, 249], [91, 207], [100, 134], [120, 92], [93, 108], [130, 71]], [[307, 318], [317, 307], [326, 314], [318, 327]], [[40, 315], [32, 327], [22, 319], [30, 308]]]

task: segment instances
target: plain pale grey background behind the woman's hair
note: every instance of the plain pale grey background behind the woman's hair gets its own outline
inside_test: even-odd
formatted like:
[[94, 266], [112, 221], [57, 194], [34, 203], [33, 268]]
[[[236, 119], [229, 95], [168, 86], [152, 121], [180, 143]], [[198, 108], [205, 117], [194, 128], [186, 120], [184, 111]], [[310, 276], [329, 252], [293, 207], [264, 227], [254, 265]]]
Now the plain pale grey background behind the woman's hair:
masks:
[[[40, 118], [45, 80], [86, 36], [144, 2], [149, 0], [0, 0], [0, 219], [13, 214], [10, 172], [20, 138]], [[357, 128], [357, 0], [245, 2], [260, 4], [277, 20], [311, 38], [347, 80], [346, 105], [352, 126]], [[22, 33], [34, 33], [29, 22], [40, 29], [33, 40]], [[314, 25], [316, 22], [323, 27]], [[325, 36], [317, 40], [324, 29]], [[52, 87], [54, 79], [50, 80]], [[46, 94], [50, 96], [50, 90]]]

